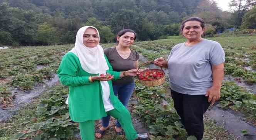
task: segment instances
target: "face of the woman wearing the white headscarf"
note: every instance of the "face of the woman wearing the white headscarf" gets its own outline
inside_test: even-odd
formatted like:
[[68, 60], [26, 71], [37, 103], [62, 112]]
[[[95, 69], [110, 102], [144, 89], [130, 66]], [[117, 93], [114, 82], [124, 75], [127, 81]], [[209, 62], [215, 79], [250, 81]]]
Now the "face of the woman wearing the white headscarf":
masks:
[[96, 47], [99, 44], [99, 36], [93, 28], [88, 28], [84, 31], [83, 43], [86, 47]]

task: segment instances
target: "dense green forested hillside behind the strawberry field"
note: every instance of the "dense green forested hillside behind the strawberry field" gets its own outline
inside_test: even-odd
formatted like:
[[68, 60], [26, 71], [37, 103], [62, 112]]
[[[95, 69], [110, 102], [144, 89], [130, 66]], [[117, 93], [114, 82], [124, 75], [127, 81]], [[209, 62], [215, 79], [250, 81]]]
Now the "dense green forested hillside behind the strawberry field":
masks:
[[256, 28], [256, 0], [232, 0], [223, 12], [214, 0], [0, 0], [0, 45], [74, 43], [81, 26], [99, 29], [101, 43], [135, 30], [139, 41], [179, 35], [182, 20], [199, 16], [205, 35]]

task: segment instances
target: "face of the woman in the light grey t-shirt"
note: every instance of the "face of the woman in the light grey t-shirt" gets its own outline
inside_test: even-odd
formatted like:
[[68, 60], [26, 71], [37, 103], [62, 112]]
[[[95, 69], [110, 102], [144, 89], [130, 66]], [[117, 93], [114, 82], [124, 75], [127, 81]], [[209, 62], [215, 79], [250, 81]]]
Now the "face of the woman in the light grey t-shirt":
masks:
[[187, 21], [184, 24], [184, 28], [182, 30], [183, 35], [187, 40], [198, 40], [201, 38], [201, 35], [204, 33], [205, 28], [201, 27], [199, 21]]

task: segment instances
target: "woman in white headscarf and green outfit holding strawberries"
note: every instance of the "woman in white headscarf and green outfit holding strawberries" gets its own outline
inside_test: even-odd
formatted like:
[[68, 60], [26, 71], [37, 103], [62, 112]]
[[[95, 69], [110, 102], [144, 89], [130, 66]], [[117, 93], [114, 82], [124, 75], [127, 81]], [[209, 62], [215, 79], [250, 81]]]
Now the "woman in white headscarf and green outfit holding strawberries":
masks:
[[99, 45], [98, 30], [93, 26], [78, 30], [75, 47], [62, 58], [57, 74], [69, 86], [69, 115], [79, 122], [82, 140], [94, 140], [94, 120], [107, 114], [118, 119], [128, 140], [147, 139], [147, 134], [136, 133], [129, 111], [114, 96], [111, 84], [111, 79], [135, 76], [136, 71], [113, 71]]

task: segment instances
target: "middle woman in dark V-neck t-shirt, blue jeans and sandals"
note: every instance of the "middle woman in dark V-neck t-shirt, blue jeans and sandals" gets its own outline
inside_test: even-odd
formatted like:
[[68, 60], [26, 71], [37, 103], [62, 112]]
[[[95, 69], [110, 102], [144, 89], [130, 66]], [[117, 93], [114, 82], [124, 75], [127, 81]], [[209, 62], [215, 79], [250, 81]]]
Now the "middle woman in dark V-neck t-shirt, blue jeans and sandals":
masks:
[[[139, 53], [130, 49], [130, 45], [133, 44], [135, 39], [135, 31], [129, 29], [121, 30], [116, 36], [118, 45], [113, 48], [104, 49], [104, 54], [108, 58], [114, 71], [128, 71], [130, 69], [138, 68]], [[116, 81], [112, 81], [112, 84], [114, 94], [118, 96], [118, 99], [126, 107], [135, 87], [134, 77], [123, 77]], [[101, 138], [102, 135], [104, 135], [106, 128], [109, 126], [109, 119], [110, 115], [102, 117], [102, 126], [99, 129], [99, 133], [96, 133], [96, 137]], [[115, 130], [117, 135], [124, 134], [120, 123], [117, 121]]]

